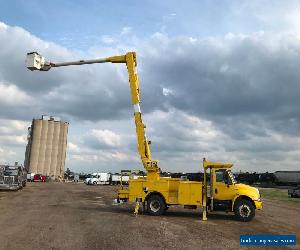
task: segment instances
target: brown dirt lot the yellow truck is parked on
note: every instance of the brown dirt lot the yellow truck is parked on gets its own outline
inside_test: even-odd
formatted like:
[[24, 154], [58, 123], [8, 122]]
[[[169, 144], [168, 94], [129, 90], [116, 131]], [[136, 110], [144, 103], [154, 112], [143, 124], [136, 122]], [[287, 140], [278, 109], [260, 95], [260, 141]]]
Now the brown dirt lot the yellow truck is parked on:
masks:
[[161, 217], [134, 217], [132, 204], [112, 205], [116, 190], [28, 183], [0, 192], [0, 249], [255, 249], [241, 247], [240, 234], [297, 234], [300, 249], [299, 204], [264, 200], [248, 223], [223, 213], [203, 222], [200, 210], [176, 207]]

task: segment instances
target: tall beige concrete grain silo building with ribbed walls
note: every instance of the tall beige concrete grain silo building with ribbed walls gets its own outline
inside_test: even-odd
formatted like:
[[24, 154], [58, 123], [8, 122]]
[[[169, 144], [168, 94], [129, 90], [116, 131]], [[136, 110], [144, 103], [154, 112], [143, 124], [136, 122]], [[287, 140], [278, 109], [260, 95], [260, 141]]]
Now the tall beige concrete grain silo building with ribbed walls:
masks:
[[68, 122], [52, 116], [33, 119], [28, 128], [24, 166], [29, 173], [62, 179], [65, 171]]

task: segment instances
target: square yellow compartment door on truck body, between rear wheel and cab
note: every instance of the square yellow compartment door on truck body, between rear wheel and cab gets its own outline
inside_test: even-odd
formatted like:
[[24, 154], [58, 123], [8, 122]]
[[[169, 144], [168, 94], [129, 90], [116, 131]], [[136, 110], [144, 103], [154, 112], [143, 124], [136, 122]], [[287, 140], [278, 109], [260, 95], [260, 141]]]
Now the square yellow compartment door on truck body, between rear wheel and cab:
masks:
[[202, 182], [181, 181], [178, 189], [178, 204], [201, 205], [202, 204]]

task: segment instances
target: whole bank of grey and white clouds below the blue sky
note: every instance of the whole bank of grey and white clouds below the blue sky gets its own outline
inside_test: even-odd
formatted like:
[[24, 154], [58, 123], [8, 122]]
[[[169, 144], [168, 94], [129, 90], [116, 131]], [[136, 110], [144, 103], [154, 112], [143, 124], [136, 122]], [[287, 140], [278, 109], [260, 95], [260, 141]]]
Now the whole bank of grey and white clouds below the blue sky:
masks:
[[[117, 39], [86, 52], [71, 51], [4, 24], [0, 41], [6, 44], [0, 51], [0, 119], [8, 121], [0, 122], [1, 148], [19, 148], [12, 151], [23, 157], [25, 123], [52, 114], [71, 121], [68, 161], [78, 169], [77, 160], [90, 162], [90, 167], [101, 161], [104, 167], [109, 160], [115, 161], [115, 169], [130, 160], [137, 165], [135, 132], [123, 130], [129, 119], [134, 126], [125, 65], [49, 72], [30, 72], [24, 65], [25, 54], [33, 50], [53, 61], [76, 60], [124, 53], [127, 42]], [[259, 31], [191, 38], [155, 33], [132, 44], [139, 56], [147, 136], [153, 141], [153, 157], [165, 169], [200, 170], [204, 156], [248, 170], [280, 169], [283, 162], [286, 169], [297, 168], [297, 34]], [[83, 131], [85, 123], [89, 126]]]

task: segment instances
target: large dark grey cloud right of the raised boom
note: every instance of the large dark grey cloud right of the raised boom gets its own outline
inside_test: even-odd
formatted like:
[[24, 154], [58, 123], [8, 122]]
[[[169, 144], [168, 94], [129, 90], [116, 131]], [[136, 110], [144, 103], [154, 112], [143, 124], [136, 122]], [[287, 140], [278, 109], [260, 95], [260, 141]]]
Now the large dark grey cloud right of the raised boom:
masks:
[[155, 98], [153, 106], [168, 104], [218, 121], [254, 115], [269, 126], [298, 119], [297, 37], [257, 33], [190, 42], [156, 36], [153, 42], [152, 50], [143, 53], [144, 84], [155, 83], [151, 88], [157, 97], [159, 88], [174, 93]]

